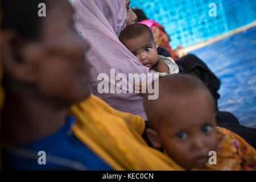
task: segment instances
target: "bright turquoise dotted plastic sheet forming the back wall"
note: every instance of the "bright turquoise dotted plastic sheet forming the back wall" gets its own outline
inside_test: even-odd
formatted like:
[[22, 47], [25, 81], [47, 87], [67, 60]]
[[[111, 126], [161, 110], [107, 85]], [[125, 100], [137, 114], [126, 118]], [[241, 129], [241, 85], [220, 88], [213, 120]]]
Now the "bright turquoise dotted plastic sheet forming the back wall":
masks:
[[[166, 28], [171, 46], [176, 48], [203, 42], [256, 19], [255, 0], [130, 0], [147, 18]], [[209, 12], [216, 4], [216, 16]]]

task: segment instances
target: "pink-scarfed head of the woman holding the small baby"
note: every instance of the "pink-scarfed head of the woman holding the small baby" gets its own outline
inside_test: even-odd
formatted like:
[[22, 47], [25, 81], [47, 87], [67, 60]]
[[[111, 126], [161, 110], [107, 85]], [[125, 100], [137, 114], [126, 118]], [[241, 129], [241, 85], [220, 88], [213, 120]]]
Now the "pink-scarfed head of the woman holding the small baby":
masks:
[[72, 6], [77, 30], [83, 38], [92, 38], [94, 42], [102, 35], [119, 36], [123, 28], [137, 20], [130, 0], [73, 0]]

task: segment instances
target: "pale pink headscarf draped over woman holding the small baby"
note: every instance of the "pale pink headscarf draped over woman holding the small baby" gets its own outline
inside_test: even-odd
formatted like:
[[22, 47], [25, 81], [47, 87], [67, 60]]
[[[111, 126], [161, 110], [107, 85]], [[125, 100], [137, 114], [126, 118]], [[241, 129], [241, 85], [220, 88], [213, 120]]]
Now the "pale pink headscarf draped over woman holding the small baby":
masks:
[[[138, 114], [147, 119], [143, 109], [143, 98], [136, 93], [98, 93], [97, 80], [100, 73], [106, 73], [110, 78], [110, 69], [115, 69], [115, 76], [123, 73], [128, 78], [129, 73], [148, 73], [144, 67], [118, 39], [126, 27], [127, 10], [125, 0], [74, 0], [75, 22], [77, 31], [90, 43], [91, 49], [87, 58], [91, 66], [90, 87], [95, 96], [100, 97], [115, 109], [132, 114]], [[150, 73], [152, 73], [150, 71]], [[110, 85], [118, 81], [109, 80]]]

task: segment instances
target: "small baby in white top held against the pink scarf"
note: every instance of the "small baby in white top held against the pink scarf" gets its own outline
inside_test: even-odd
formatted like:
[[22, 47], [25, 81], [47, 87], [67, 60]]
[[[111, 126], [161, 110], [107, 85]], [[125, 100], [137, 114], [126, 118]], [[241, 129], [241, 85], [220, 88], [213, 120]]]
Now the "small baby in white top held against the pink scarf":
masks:
[[[141, 63], [159, 76], [179, 73], [179, 67], [171, 57], [158, 55], [150, 27], [145, 24], [131, 24], [120, 34], [119, 40]], [[167, 66], [168, 67], [167, 67]]]

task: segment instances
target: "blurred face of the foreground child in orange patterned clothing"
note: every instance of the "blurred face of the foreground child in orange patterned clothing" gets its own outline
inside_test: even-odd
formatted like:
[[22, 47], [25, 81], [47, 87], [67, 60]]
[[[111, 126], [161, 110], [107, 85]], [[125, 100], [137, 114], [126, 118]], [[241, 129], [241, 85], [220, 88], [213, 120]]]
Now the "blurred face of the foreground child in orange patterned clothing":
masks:
[[209, 160], [209, 151], [216, 151], [218, 146], [213, 107], [209, 102], [192, 100], [185, 107], [180, 107], [181, 103], [172, 108], [175, 114], [164, 119], [158, 132], [164, 150], [185, 169], [202, 168]]

